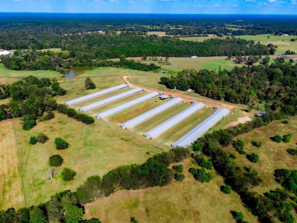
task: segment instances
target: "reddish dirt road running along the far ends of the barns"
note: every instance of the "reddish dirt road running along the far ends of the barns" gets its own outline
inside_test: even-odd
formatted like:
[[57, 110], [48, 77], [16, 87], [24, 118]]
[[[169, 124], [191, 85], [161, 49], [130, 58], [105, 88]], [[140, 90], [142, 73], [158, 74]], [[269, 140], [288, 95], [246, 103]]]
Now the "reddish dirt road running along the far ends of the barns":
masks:
[[[129, 84], [130, 87], [141, 87], [140, 85], [132, 84], [128, 79], [129, 77], [134, 77], [134, 76], [122, 76], [124, 81], [127, 84]], [[146, 91], [153, 92], [153, 91], [156, 91], [156, 89], [146, 88]], [[172, 95], [172, 92], [166, 92], [166, 91], [162, 91], [162, 92], [165, 95]], [[211, 106], [211, 107], [214, 107], [215, 104], [219, 104], [220, 108], [225, 108], [225, 109], [228, 109], [230, 111], [233, 110], [234, 108], [244, 109], [243, 107], [240, 107], [240, 106], [233, 106], [233, 105], [225, 104], [225, 103], [222, 103], [222, 102], [216, 101], [216, 100], [208, 100], [208, 99], [196, 98], [196, 97], [184, 95], [184, 93], [182, 93], [182, 92], [181, 93], [174, 93], [174, 96], [175, 97], [181, 97], [185, 101], [192, 101], [192, 99], [199, 100], [199, 101], [202, 101], [206, 106]]]

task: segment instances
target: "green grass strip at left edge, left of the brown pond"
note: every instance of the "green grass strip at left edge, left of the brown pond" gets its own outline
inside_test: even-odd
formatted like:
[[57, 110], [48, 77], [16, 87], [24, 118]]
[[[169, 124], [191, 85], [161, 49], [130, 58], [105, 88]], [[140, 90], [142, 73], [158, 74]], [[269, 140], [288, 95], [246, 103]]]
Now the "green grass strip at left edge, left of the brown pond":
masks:
[[6, 69], [3, 64], [0, 64], [0, 78], [23, 78], [29, 75], [48, 78], [57, 78], [61, 76], [60, 73], [53, 70], [10, 70]]

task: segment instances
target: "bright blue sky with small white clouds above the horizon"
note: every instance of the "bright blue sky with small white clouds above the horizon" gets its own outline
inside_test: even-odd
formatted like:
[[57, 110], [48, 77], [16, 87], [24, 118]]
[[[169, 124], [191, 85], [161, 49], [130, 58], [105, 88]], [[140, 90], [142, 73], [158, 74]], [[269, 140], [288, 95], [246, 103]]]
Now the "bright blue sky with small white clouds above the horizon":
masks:
[[0, 0], [0, 12], [297, 14], [297, 0]]

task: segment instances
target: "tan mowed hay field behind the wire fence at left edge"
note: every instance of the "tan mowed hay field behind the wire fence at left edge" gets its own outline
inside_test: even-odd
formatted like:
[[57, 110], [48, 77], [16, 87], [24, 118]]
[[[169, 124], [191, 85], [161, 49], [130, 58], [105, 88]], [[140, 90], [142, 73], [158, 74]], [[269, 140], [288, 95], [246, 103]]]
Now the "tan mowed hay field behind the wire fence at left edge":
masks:
[[12, 120], [0, 122], [0, 210], [25, 206]]

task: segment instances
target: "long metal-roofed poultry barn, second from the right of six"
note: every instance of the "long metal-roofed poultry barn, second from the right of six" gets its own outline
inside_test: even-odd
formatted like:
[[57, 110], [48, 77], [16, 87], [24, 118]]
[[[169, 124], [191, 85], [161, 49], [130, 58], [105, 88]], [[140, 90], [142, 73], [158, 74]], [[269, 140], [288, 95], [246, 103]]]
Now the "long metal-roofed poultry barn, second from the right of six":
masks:
[[151, 129], [150, 131], [146, 132], [143, 135], [149, 139], [157, 138], [159, 135], [161, 135], [168, 129], [172, 128], [174, 125], [176, 125], [180, 121], [184, 120], [185, 118], [187, 118], [194, 112], [199, 111], [204, 106], [205, 105], [203, 103], [195, 103], [195, 104], [191, 105], [189, 108], [176, 114], [175, 116], [171, 117], [167, 121], [161, 123], [160, 125], [156, 126], [155, 128]]

